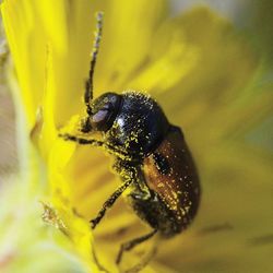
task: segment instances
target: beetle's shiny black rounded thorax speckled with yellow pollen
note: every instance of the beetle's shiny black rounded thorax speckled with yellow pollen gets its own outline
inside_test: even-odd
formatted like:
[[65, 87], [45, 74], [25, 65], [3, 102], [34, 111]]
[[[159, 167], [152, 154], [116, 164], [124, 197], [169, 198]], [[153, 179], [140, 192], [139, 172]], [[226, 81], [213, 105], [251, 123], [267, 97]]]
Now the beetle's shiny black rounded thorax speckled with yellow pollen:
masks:
[[136, 93], [122, 95], [119, 114], [106, 138], [128, 153], [143, 156], [164, 139], [169, 123], [154, 99]]

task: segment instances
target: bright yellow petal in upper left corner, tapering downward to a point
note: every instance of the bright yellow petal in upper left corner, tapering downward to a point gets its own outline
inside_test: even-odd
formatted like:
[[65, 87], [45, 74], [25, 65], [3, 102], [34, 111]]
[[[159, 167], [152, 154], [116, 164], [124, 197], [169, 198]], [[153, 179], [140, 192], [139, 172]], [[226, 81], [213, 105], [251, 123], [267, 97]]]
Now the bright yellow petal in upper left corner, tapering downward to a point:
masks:
[[45, 32], [29, 1], [4, 1], [1, 12], [29, 130], [44, 88]]

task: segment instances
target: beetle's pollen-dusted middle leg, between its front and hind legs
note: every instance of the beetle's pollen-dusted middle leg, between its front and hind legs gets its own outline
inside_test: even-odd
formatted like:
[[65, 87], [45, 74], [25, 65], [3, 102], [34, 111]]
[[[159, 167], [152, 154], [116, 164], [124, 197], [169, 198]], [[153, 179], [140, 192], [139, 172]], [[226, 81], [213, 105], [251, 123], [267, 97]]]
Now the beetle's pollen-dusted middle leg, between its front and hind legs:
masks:
[[134, 167], [131, 167], [130, 171], [128, 171], [128, 176], [127, 179], [124, 179], [124, 182], [106, 200], [106, 202], [103, 204], [102, 210], [98, 212], [97, 216], [94, 219], [90, 221], [93, 229], [104, 217], [106, 211], [112, 206], [112, 204], [121, 195], [121, 193], [130, 186], [130, 183], [134, 181], [135, 175], [136, 170], [134, 169]]

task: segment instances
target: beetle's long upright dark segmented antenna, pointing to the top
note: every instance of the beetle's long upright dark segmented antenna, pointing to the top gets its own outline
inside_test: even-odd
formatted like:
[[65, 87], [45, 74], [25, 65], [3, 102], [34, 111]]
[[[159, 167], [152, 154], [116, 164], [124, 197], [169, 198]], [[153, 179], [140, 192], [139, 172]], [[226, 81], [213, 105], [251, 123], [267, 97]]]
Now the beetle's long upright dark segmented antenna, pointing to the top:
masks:
[[92, 107], [90, 103], [93, 99], [93, 75], [94, 75], [97, 54], [99, 49], [99, 41], [102, 39], [102, 34], [103, 34], [103, 16], [104, 16], [103, 12], [97, 12], [95, 39], [93, 43], [92, 59], [90, 62], [90, 75], [88, 75], [88, 80], [85, 82], [84, 103], [86, 105], [86, 110], [88, 115], [92, 115]]

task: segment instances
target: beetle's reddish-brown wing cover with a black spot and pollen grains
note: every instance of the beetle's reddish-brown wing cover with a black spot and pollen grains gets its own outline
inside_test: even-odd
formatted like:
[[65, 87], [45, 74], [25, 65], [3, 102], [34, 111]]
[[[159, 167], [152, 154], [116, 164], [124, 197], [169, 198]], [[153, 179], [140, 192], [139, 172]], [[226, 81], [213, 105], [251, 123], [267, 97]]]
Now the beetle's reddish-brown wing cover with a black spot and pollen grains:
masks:
[[194, 217], [200, 199], [199, 178], [194, 163], [180, 129], [171, 130], [154, 151], [168, 163], [168, 171], [161, 171], [155, 156], [144, 159], [147, 187], [158, 193], [166, 206], [174, 212], [181, 229]]

